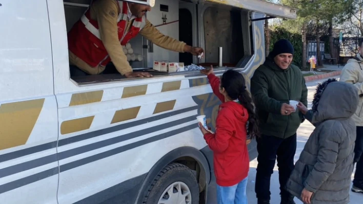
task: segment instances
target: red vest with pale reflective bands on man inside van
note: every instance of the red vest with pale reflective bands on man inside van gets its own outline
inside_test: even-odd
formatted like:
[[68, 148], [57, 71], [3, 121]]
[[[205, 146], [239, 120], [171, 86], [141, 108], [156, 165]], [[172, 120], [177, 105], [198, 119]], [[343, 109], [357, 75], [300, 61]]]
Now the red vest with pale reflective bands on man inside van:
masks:
[[[119, 8], [117, 17], [118, 40], [122, 46], [125, 46], [144, 28], [146, 18], [145, 16], [135, 18], [129, 32], [125, 33], [129, 20], [127, 16], [128, 5], [123, 1], [117, 2]], [[100, 38], [98, 22], [91, 19], [89, 8], [68, 32], [68, 49], [92, 67], [106, 66], [111, 59]]]

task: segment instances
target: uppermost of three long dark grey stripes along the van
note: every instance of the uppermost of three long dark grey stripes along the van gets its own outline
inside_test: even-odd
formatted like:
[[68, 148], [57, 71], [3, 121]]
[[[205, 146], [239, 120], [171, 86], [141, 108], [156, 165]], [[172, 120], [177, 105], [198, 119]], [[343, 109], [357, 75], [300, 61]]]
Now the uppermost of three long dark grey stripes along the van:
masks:
[[[126, 129], [126, 128], [137, 126], [137, 125], [142, 125], [142, 124], [145, 124], [145, 123], [154, 122], [154, 121], [161, 120], [161, 119], [164, 119], [164, 118], [168, 118], [168, 117], [171, 117], [171, 116], [175, 116], [175, 115], [178, 115], [178, 114], [183, 114], [183, 112], [195, 110], [195, 109], [197, 109], [197, 107], [198, 106], [193, 106], [193, 107], [189, 107], [189, 108], [175, 110], [175, 111], [172, 111], [172, 112], [167, 112], [166, 114], [161, 114], [161, 115], [158, 115], [158, 116], [152, 116], [152, 117], [149, 117], [149, 118], [146, 118], [146, 119], [116, 125], [114, 127], [109, 127], [109, 128], [102, 129], [102, 130], [96, 130], [96, 131], [93, 131], [93, 132], [76, 135], [76, 136], [71, 137], [71, 138], [66, 138], [66, 139], [63, 139], [63, 140], [59, 140], [58, 146], [60, 147], [60, 146], [72, 144], [72, 143], [87, 140], [87, 139], [90, 139], [90, 138], [95, 138], [95, 137], [98, 137], [100, 135], [107, 134], [107, 133], [110, 133], [110, 132]], [[9, 161], [9, 160], [13, 160], [15, 158], [22, 157], [22, 156], [25, 156], [25, 155], [28, 155], [28, 154], [33, 154], [33, 153], [36, 153], [36, 152], [41, 152], [41, 151], [44, 151], [44, 150], [56, 148], [56, 145], [57, 145], [57, 142], [54, 141], [54, 142], [50, 142], [50, 143], [46, 143], [46, 144], [42, 144], [42, 145], [29, 147], [29, 148], [26, 148], [26, 149], [17, 150], [17, 151], [9, 152], [9, 153], [6, 153], [6, 154], [2, 154], [2, 155], [0, 155], [0, 163], [6, 162], [6, 161]]]

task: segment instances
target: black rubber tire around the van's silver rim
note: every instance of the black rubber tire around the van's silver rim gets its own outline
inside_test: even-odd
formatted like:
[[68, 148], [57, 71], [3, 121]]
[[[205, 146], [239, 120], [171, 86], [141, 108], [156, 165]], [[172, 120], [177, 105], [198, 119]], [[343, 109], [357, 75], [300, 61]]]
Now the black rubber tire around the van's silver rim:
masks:
[[143, 204], [157, 204], [164, 191], [175, 182], [182, 182], [188, 186], [192, 198], [191, 204], [199, 203], [199, 186], [193, 171], [185, 165], [171, 163], [157, 174]]

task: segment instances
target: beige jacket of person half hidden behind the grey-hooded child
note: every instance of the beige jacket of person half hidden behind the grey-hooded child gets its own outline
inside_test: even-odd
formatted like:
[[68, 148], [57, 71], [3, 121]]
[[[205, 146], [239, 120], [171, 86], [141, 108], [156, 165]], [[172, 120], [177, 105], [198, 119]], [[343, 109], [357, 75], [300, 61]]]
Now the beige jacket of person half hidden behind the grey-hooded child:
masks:
[[[360, 57], [360, 56], [359, 56]], [[363, 95], [363, 59], [348, 60], [340, 74], [340, 80], [353, 84], [358, 88], [358, 94]], [[359, 97], [359, 103], [355, 114], [352, 116], [356, 126], [363, 126], [363, 97]]]

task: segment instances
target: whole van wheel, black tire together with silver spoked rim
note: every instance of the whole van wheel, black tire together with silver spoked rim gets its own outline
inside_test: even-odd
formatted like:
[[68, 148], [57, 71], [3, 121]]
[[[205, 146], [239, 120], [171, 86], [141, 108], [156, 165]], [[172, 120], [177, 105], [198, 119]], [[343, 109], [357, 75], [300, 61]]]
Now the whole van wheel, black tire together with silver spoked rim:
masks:
[[171, 163], [150, 185], [144, 204], [197, 204], [199, 187], [194, 173], [187, 166]]

